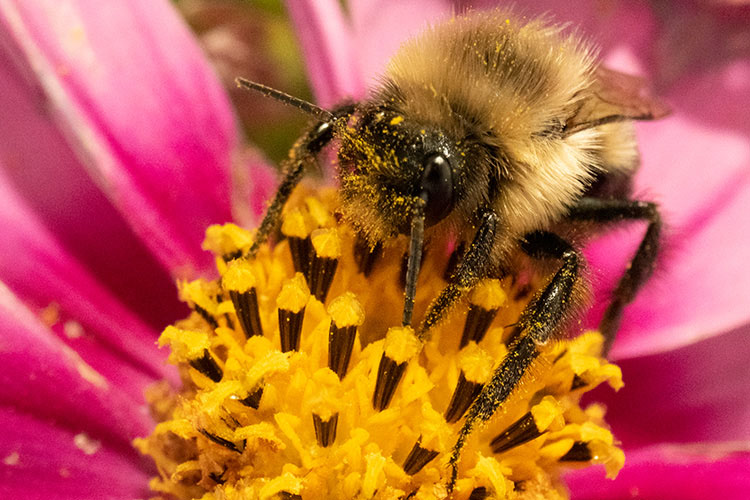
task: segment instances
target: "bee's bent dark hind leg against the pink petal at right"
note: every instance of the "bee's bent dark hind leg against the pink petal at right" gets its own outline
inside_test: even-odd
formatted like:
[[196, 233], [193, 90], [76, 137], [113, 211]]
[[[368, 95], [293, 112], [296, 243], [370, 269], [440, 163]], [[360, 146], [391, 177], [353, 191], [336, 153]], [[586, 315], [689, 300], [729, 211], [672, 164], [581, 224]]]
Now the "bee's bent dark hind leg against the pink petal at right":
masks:
[[659, 252], [661, 216], [655, 203], [620, 199], [582, 198], [570, 211], [572, 220], [586, 220], [599, 223], [621, 222], [624, 220], [648, 221], [648, 228], [625, 273], [612, 292], [612, 302], [607, 306], [599, 323], [599, 331], [604, 335], [604, 352], [608, 352], [620, 326], [622, 310], [634, 298], [640, 287], [654, 271]]

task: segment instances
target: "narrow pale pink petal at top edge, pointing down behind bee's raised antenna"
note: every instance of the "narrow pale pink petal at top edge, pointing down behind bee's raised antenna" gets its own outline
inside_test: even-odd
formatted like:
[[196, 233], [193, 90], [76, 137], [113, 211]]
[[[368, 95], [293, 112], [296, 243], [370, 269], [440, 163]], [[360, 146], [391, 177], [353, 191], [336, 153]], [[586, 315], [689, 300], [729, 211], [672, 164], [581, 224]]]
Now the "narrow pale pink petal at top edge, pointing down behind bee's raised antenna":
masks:
[[346, 97], [361, 98], [365, 88], [359, 56], [338, 0], [291, 0], [286, 6], [316, 102], [330, 107]]

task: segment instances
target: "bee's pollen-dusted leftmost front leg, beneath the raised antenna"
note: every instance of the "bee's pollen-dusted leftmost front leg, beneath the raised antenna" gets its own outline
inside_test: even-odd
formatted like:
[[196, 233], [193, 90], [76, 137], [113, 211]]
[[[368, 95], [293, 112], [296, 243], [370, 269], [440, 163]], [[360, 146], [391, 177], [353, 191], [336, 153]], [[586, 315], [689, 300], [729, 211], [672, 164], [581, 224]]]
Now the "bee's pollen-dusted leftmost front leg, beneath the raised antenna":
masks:
[[[336, 108], [332, 111], [333, 119], [336, 120], [351, 114], [353, 109], [354, 107], [351, 104]], [[266, 242], [274, 229], [278, 227], [279, 220], [281, 219], [281, 211], [292, 191], [302, 179], [305, 167], [314, 161], [315, 156], [331, 142], [333, 139], [333, 128], [333, 121], [318, 122], [292, 146], [284, 168], [284, 177], [276, 189], [276, 194], [273, 200], [271, 200], [271, 204], [268, 206], [260, 226], [258, 226], [255, 239], [250, 250], [245, 255], [246, 257], [254, 257], [258, 252], [258, 248]]]

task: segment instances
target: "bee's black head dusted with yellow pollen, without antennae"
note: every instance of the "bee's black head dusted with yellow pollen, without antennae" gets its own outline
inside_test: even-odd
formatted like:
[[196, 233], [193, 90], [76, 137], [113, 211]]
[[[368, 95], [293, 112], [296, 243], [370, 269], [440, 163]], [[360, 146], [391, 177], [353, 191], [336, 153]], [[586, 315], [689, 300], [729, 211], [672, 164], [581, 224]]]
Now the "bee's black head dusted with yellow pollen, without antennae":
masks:
[[371, 241], [408, 233], [419, 199], [430, 227], [448, 218], [462, 198], [460, 145], [440, 130], [374, 107], [355, 114], [340, 140], [344, 210]]

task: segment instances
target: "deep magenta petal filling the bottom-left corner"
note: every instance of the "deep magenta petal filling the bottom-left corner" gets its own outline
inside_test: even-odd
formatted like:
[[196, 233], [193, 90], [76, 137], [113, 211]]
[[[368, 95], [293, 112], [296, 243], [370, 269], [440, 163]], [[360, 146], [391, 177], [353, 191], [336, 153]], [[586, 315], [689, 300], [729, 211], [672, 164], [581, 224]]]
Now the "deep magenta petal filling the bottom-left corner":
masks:
[[1, 498], [132, 500], [152, 496], [150, 467], [135, 450], [112, 449], [88, 429], [85, 437], [92, 440], [92, 447], [78, 447], [75, 436], [79, 435], [80, 443], [83, 427], [61, 428], [54, 421], [13, 408], [0, 407], [0, 427]]

